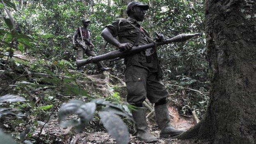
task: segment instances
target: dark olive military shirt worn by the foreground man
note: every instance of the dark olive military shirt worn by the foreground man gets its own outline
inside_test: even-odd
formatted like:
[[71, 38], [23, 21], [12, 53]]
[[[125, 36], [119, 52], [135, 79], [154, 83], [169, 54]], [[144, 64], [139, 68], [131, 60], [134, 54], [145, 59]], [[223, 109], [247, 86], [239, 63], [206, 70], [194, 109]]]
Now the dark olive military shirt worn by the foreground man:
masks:
[[[118, 37], [120, 43], [129, 42], [133, 45], [137, 44], [139, 46], [142, 46], [153, 42], [153, 40], [149, 37], [148, 32], [144, 30], [135, 19], [132, 18], [120, 18], [117, 21], [114, 21], [112, 24], [106, 25], [106, 27], [112, 30], [113, 36]], [[126, 65], [140, 66], [149, 70], [152, 73], [161, 71], [157, 53], [155, 49], [151, 51], [151, 53], [153, 53], [149, 56], [151, 62], [147, 62], [145, 51], [141, 51], [140, 53], [126, 57]]]

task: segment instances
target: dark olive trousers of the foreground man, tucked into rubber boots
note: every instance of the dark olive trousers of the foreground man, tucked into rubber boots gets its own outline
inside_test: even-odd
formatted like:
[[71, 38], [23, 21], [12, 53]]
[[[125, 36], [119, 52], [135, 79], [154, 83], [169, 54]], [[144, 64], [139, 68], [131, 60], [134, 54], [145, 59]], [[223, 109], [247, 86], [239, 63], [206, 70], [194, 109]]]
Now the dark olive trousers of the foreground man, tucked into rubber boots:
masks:
[[169, 95], [165, 85], [158, 80], [157, 73], [150, 73], [139, 66], [127, 67], [125, 81], [128, 103], [143, 103], [146, 98], [151, 103], [157, 103]]

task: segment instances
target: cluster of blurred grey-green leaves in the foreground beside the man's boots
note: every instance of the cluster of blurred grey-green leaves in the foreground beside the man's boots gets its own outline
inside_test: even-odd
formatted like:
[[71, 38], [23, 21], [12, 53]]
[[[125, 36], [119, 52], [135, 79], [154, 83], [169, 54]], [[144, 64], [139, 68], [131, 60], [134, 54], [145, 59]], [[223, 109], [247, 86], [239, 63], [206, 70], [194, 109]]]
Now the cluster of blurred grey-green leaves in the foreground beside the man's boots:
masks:
[[[96, 99], [89, 103], [78, 100], [69, 101], [59, 109], [60, 125], [63, 127], [74, 126], [78, 132], [81, 132], [94, 117], [96, 105], [98, 107], [97, 113], [110, 135], [116, 139], [118, 144], [128, 144], [128, 129], [117, 114], [130, 119], [130, 111], [124, 109], [125, 106], [119, 103], [110, 103], [102, 99]], [[63, 121], [70, 114], [78, 115], [79, 119]]]

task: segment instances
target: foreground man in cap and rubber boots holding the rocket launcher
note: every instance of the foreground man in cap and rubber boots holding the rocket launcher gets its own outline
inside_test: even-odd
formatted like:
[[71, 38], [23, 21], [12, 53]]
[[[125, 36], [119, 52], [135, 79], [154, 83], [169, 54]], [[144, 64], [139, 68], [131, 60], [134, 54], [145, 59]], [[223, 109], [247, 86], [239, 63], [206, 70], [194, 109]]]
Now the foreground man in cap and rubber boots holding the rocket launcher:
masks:
[[[126, 13], [128, 18], [120, 18], [112, 24], [106, 25], [101, 33], [102, 37], [121, 51], [128, 51], [132, 46], [141, 46], [152, 43], [148, 32], [142, 28], [138, 21], [143, 21], [148, 5], [140, 2], [130, 2]], [[119, 41], [115, 37], [119, 38]], [[156, 41], [162, 41], [163, 35], [159, 34]], [[155, 117], [160, 128], [160, 137], [175, 136], [183, 133], [183, 130], [175, 129], [170, 124], [166, 98], [169, 95], [160, 78], [162, 76], [155, 48], [147, 49], [140, 53], [130, 55], [125, 59], [127, 101], [137, 107], [133, 111], [138, 135], [145, 142], [155, 142], [158, 139], [151, 135], [147, 129], [146, 112], [142, 108], [142, 102], [148, 98], [155, 103]]]

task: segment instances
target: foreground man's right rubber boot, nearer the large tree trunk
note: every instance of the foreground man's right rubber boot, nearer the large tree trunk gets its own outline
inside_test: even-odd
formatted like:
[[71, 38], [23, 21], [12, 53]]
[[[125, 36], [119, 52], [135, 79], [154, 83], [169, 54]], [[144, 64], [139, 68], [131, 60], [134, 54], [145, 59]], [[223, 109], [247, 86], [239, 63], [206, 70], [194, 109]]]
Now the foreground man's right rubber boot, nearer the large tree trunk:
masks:
[[184, 132], [171, 126], [167, 104], [155, 106], [155, 119], [161, 130], [160, 137], [173, 137]]

